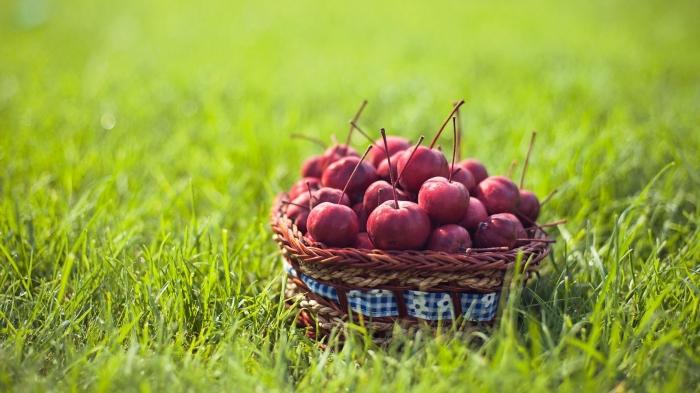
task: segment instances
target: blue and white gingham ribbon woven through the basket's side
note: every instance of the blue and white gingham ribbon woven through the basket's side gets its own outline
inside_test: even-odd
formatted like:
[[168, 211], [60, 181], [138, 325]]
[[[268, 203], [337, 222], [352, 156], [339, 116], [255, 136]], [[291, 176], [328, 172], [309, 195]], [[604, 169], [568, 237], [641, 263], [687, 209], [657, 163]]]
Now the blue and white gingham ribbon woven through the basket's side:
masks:
[[[283, 260], [284, 270], [298, 277], [311, 292], [338, 302], [338, 292], [330, 285], [322, 284], [306, 274], [297, 274]], [[490, 321], [498, 310], [498, 292], [461, 293], [462, 316], [469, 321]], [[454, 319], [452, 297], [447, 292], [404, 291], [408, 315], [428, 321]], [[393, 292], [385, 289], [351, 290], [347, 293], [350, 308], [368, 317], [398, 317], [399, 306]]]

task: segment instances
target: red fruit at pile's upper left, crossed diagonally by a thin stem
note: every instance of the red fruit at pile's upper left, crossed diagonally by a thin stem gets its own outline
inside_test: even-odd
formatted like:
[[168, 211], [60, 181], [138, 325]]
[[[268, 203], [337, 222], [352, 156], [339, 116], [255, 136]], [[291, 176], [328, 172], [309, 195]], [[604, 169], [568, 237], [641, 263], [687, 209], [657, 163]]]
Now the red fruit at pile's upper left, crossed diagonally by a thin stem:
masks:
[[[332, 163], [323, 171], [321, 183], [324, 187], [342, 190], [358, 162], [360, 162], [358, 157], [345, 157]], [[346, 192], [351, 195], [362, 192], [375, 180], [377, 180], [377, 171], [371, 164], [363, 161], [350, 179]]]

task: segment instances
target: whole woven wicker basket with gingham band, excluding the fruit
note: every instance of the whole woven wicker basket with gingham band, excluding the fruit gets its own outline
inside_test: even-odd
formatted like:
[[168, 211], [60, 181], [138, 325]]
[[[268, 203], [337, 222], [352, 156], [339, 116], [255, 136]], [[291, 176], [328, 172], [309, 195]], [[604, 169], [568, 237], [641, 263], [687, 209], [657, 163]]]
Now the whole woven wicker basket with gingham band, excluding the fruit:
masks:
[[301, 308], [297, 322], [309, 336], [361, 323], [377, 338], [395, 324], [489, 326], [498, 314], [506, 277], [522, 255], [525, 280], [549, 254], [549, 239], [532, 228], [532, 241], [513, 249], [473, 248], [464, 253], [328, 248], [311, 243], [275, 201], [270, 218], [287, 272], [286, 301]]

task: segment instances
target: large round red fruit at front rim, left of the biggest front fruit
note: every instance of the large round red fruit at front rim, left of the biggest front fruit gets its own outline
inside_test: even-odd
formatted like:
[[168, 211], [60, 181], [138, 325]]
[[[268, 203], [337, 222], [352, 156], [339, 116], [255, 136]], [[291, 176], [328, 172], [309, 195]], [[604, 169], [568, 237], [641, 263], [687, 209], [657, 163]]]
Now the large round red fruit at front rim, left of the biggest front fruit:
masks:
[[311, 209], [307, 228], [314, 240], [330, 247], [353, 244], [360, 230], [357, 215], [351, 208], [330, 202]]

